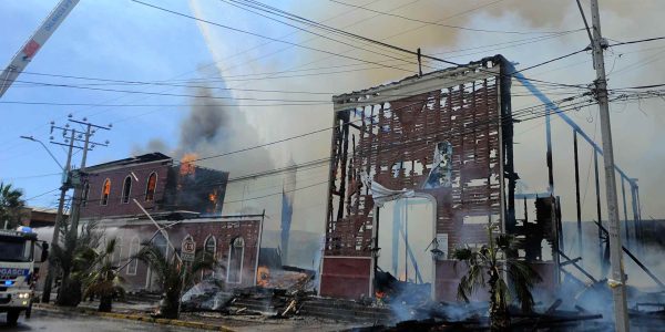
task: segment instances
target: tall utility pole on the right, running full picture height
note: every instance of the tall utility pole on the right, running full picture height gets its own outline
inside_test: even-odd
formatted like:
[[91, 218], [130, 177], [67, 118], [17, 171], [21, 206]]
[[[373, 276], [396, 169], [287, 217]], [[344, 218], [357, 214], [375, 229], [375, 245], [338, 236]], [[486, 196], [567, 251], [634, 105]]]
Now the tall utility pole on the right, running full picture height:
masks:
[[610, 125], [610, 104], [607, 101], [607, 80], [603, 48], [607, 42], [601, 33], [601, 15], [598, 1], [591, 0], [593, 62], [596, 71], [595, 93], [600, 106], [601, 134], [603, 137], [603, 164], [605, 168], [605, 190], [608, 216], [610, 263], [612, 280], [608, 281], [614, 299], [614, 323], [616, 331], [628, 331], [628, 311], [626, 304], [625, 274], [623, 270], [623, 252], [621, 243], [621, 226], [618, 222], [618, 199], [616, 196], [616, 178], [614, 174], [614, 148], [612, 147], [612, 127]]

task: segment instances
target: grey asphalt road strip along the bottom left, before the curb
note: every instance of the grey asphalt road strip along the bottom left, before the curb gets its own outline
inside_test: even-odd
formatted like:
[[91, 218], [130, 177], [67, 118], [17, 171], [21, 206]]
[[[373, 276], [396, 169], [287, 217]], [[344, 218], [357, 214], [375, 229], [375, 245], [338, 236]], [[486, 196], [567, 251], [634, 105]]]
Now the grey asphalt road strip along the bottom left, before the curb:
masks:
[[114, 320], [92, 315], [48, 313], [32, 311], [32, 318], [25, 320], [23, 315], [19, 319], [17, 326], [6, 324], [6, 315], [0, 313], [0, 332], [4, 331], [201, 331], [178, 326], [168, 326], [130, 320]]

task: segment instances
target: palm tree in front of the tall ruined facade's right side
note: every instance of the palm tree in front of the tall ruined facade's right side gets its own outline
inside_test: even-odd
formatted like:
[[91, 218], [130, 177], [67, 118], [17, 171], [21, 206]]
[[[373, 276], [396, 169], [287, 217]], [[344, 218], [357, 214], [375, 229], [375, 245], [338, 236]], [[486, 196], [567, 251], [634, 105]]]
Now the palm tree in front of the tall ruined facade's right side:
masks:
[[[540, 276], [524, 260], [518, 258], [518, 240], [511, 235], [494, 237], [497, 225], [488, 226], [488, 245], [478, 250], [456, 249], [453, 258], [463, 261], [467, 273], [460, 279], [458, 298], [469, 302], [469, 297], [479, 288], [487, 287], [490, 293], [490, 325], [492, 331], [508, 331], [510, 317], [508, 304], [513, 297], [523, 311], [531, 311], [531, 288], [541, 281]], [[485, 278], [485, 274], [489, 278]], [[504, 280], [504, 274], [508, 280]]]

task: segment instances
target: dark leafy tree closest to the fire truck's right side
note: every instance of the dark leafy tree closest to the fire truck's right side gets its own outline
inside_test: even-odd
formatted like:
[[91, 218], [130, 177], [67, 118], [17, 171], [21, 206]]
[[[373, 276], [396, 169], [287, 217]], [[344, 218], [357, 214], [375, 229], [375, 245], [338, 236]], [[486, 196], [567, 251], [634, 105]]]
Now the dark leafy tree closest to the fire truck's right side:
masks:
[[69, 222], [60, 229], [61, 243], [53, 243], [51, 256], [62, 273], [62, 281], [55, 303], [63, 307], [76, 307], [81, 302], [83, 277], [94, 263], [89, 255], [91, 248], [98, 248], [103, 232], [96, 222], [88, 222], [80, 232], [70, 231]]

